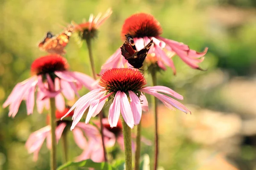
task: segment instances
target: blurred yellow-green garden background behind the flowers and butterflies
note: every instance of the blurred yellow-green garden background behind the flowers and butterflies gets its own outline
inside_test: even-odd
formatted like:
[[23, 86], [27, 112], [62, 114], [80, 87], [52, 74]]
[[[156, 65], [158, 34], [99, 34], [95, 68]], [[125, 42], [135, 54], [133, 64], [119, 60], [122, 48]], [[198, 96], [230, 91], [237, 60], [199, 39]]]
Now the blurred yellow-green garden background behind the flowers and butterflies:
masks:
[[[159, 76], [158, 84], [182, 94], [192, 111], [174, 113], [160, 105], [159, 165], [165, 170], [256, 170], [255, 0], [1, 0], [0, 105], [17, 82], [30, 76], [33, 60], [46, 54], [37, 45], [47, 31], [58, 34], [71, 20], [81, 23], [109, 7], [113, 14], [93, 41], [98, 72], [122, 45], [125, 18], [136, 12], [153, 14], [163, 37], [197, 51], [209, 48], [201, 64], [207, 71], [192, 70], [176, 56], [177, 75], [168, 69]], [[70, 70], [90, 74], [87, 48], [80, 46], [71, 37], [65, 57]], [[37, 162], [24, 147], [29, 134], [46, 125], [46, 114], [26, 116], [24, 102], [15, 119], [7, 114], [0, 107], [0, 170], [47, 170], [45, 144]], [[144, 114], [143, 135], [152, 141], [153, 125], [152, 114]], [[78, 156], [71, 133], [70, 144], [75, 148], [70, 158]], [[143, 146], [142, 153], [153, 158], [154, 148]], [[59, 147], [59, 164], [61, 154]]]

